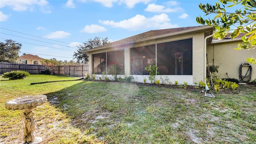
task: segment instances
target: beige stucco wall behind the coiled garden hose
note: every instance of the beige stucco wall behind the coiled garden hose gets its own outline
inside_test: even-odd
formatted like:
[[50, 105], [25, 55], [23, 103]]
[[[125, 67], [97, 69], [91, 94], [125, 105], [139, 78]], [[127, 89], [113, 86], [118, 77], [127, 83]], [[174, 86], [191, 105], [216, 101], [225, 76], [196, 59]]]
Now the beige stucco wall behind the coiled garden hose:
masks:
[[[240, 42], [226, 42], [207, 46], [208, 63], [220, 66], [217, 76], [220, 78], [236, 78], [239, 80], [240, 65], [248, 57], [256, 58], [256, 50], [234, 50]], [[256, 78], [256, 64], [252, 66], [252, 80]], [[247, 67], [242, 68], [242, 74], [246, 74]], [[228, 73], [228, 76], [226, 75]]]

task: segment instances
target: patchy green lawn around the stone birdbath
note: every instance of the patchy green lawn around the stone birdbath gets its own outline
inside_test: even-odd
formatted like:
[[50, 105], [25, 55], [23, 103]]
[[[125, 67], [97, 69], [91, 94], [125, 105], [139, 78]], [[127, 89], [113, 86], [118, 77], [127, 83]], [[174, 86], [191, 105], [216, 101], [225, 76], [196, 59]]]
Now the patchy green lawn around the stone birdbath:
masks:
[[36, 136], [42, 144], [256, 143], [256, 87], [239, 94], [146, 86], [136, 83], [68, 81], [78, 79], [30, 75], [23, 80], [0, 77], [0, 143], [22, 142], [21, 112], [4, 108], [20, 96], [45, 94], [38, 106]]

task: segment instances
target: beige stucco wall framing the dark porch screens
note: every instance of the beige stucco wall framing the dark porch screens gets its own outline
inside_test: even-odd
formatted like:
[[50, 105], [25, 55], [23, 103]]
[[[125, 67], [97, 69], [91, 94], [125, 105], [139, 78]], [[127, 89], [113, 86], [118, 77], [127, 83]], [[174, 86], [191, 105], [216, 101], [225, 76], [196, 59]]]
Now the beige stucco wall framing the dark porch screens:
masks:
[[[175, 80], [178, 80], [178, 82], [181, 84], [182, 82], [186, 81], [188, 84], [194, 84], [194, 82], [200, 82], [201, 80], [204, 80], [204, 32], [198, 32], [194, 34], [186, 34], [186, 35], [180, 35], [180, 36], [171, 36], [166, 38], [160, 38], [157, 40], [148, 40], [144, 42], [138, 42], [135, 44], [130, 44], [124, 47], [115, 47], [112, 48], [106, 48], [104, 50], [96, 50], [89, 52], [89, 73], [92, 74], [92, 54], [98, 54], [101, 52], [108, 52], [113, 50], [120, 50], [124, 49], [124, 64], [125, 64], [125, 76], [130, 76], [130, 48], [138, 47], [138, 46], [145, 46], [150, 44], [156, 44], [156, 43], [162, 43], [162, 42], [170, 42], [175, 40], [182, 40], [192, 38], [192, 44], [193, 44], [193, 76], [172, 76], [171, 81], [174, 82]], [[136, 75], [141, 76], [143, 82], [143, 75]], [[158, 76], [159, 77], [159, 76]]]

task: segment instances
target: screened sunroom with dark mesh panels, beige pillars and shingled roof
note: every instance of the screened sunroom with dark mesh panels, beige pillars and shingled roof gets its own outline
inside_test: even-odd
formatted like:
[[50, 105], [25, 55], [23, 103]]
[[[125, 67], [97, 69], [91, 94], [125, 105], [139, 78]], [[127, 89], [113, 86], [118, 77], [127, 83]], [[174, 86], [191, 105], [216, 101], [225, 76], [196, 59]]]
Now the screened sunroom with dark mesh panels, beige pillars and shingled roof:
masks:
[[89, 72], [98, 78], [107, 75], [111, 80], [111, 67], [116, 65], [119, 77], [150, 83], [145, 70], [150, 64], [158, 67], [156, 80], [194, 84], [206, 76], [206, 37], [210, 34], [209, 26], [152, 30], [84, 52], [89, 55]]

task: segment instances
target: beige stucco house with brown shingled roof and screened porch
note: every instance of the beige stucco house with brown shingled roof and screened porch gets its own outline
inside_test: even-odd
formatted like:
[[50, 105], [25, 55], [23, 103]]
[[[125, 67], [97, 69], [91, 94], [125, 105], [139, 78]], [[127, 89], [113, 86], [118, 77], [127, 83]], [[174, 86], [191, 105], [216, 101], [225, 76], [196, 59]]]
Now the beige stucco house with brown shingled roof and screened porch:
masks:
[[[214, 40], [211, 26], [191, 26], [151, 30], [85, 50], [89, 56], [89, 73], [102, 77], [111, 64], [121, 67], [120, 75], [133, 76], [137, 82], [148, 77], [145, 66], [156, 64], [156, 80], [168, 78], [180, 84], [206, 80], [207, 64], [219, 65], [218, 76], [239, 78], [239, 67], [246, 58], [256, 58], [255, 50], [234, 50], [240, 38]], [[252, 80], [256, 78], [256, 65], [252, 65]], [[111, 77], [111, 75], [108, 75]], [[147, 78], [148, 83], [150, 81]]]

